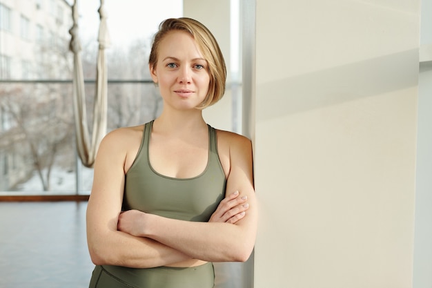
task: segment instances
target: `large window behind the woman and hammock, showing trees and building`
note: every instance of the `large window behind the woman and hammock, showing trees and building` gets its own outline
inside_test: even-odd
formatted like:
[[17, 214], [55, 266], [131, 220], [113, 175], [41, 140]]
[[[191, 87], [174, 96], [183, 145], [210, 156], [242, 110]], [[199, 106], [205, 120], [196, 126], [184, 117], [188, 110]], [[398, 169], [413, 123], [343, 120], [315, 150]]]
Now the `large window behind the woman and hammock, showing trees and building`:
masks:
[[[117, 2], [106, 1], [108, 132], [160, 113], [161, 99], [148, 74], [150, 42], [163, 19], [182, 15], [181, 0], [152, 10], [148, 3]], [[0, 195], [88, 194], [92, 186], [92, 169], [82, 166], [75, 146], [71, 2], [47, 3], [11, 8], [0, 3]], [[99, 1], [79, 1], [79, 9], [91, 133]]]

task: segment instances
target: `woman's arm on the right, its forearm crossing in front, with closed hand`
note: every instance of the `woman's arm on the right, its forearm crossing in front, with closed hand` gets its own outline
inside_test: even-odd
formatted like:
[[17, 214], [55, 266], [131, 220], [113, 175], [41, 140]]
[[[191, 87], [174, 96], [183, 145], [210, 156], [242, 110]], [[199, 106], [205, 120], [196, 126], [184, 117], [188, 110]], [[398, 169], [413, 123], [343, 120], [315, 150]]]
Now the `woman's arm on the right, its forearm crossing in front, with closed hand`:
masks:
[[224, 137], [229, 143], [230, 159], [226, 191], [227, 193], [239, 191], [239, 198], [247, 198], [249, 207], [244, 218], [235, 224], [188, 222], [138, 211], [127, 211], [119, 217], [119, 229], [134, 236], [151, 238], [199, 260], [210, 262], [248, 260], [257, 233], [252, 145], [250, 140], [240, 135], [228, 133]]

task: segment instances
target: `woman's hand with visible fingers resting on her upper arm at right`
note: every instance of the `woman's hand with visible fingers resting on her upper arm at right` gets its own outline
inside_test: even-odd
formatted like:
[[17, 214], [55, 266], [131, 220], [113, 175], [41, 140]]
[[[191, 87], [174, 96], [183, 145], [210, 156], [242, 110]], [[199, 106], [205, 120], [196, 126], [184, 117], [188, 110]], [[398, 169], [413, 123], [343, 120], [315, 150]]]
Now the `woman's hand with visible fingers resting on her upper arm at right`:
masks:
[[246, 203], [247, 200], [246, 196], [239, 197], [239, 191], [235, 191], [219, 203], [219, 206], [211, 215], [208, 222], [234, 224], [246, 215], [246, 210], [249, 208], [249, 204]]

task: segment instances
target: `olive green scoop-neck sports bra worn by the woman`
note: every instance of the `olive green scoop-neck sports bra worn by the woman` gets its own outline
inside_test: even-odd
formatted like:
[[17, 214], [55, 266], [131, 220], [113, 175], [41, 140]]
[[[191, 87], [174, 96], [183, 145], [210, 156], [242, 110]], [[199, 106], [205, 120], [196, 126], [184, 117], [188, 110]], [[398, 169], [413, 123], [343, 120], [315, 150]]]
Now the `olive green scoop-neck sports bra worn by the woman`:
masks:
[[150, 164], [148, 144], [153, 121], [144, 125], [135, 161], [126, 173], [123, 209], [137, 209], [166, 218], [207, 222], [224, 199], [226, 178], [217, 153], [215, 128], [208, 125], [208, 162], [192, 178], [167, 177]]

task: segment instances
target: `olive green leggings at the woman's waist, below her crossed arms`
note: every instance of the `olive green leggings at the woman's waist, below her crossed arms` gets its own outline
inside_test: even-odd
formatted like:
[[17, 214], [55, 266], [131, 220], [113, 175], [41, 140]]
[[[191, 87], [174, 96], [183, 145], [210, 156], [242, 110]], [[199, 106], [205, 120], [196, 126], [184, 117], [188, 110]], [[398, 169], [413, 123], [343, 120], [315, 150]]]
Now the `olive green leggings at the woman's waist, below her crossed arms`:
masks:
[[96, 266], [89, 288], [212, 288], [215, 270], [208, 262], [197, 267], [135, 269]]

